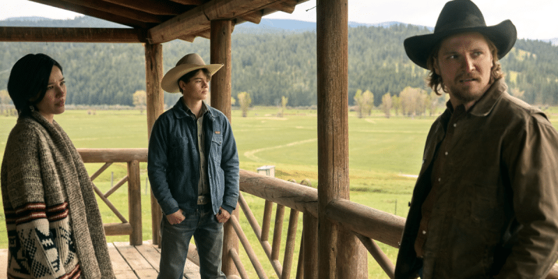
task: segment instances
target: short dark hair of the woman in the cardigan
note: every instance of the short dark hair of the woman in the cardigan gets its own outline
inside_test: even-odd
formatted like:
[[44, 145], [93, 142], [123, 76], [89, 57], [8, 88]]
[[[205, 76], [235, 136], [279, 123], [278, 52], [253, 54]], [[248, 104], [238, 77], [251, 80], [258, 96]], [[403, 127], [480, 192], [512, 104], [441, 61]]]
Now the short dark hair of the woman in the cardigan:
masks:
[[42, 53], [27, 54], [15, 62], [8, 79], [8, 94], [20, 115], [30, 114], [32, 109], [45, 97], [48, 80], [56, 66], [62, 66], [50, 56]]

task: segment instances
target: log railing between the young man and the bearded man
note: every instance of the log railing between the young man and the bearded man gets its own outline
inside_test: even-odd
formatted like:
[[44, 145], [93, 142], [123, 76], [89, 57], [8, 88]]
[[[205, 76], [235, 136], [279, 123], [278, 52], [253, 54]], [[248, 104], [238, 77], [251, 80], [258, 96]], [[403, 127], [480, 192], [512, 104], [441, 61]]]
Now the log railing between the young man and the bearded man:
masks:
[[[266, 252], [278, 278], [289, 278], [290, 276], [295, 247], [296, 226], [298, 225], [299, 212], [303, 213], [303, 236], [301, 237], [301, 246], [299, 246], [296, 278], [317, 278], [317, 190], [271, 176], [248, 172], [243, 169], [240, 170], [240, 189], [242, 192], [265, 199], [261, 228], [242, 195], [239, 197], [239, 204], [259, 243]], [[269, 227], [271, 225], [271, 211], [273, 210], [274, 203], [277, 204], [276, 219], [273, 229], [273, 243], [270, 245], [268, 241]], [[285, 207], [289, 207], [291, 210], [285, 243], [285, 256], [281, 263], [278, 260], [278, 254]], [[332, 222], [352, 230], [386, 274], [393, 278], [393, 264], [372, 239], [398, 248], [398, 241], [405, 225], [405, 218], [371, 209], [368, 206], [356, 204], [346, 199], [333, 200], [326, 207], [324, 214]], [[237, 222], [237, 220], [234, 220], [234, 223]], [[235, 225], [235, 230], [237, 233], [240, 231], [241, 234], [244, 234], [240, 228], [237, 229], [237, 225]], [[239, 238], [243, 239], [246, 236], [239, 235]], [[246, 245], [243, 243], [243, 248], [247, 250], [246, 253], [250, 257], [250, 262], [254, 265], [259, 278], [267, 278], [265, 274], [260, 275], [258, 270], [261, 264], [257, 262], [257, 259], [252, 259], [251, 252], [248, 251], [252, 250], [252, 248], [249, 245], [249, 243]], [[237, 251], [230, 252], [237, 253]], [[308, 271], [307, 274], [304, 271]], [[241, 277], [245, 278], [242, 274]]]

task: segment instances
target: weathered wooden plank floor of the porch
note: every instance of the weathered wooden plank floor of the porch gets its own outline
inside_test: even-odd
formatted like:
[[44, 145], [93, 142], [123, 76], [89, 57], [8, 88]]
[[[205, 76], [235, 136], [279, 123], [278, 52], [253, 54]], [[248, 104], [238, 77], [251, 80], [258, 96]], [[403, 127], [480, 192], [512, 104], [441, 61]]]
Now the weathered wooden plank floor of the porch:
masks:
[[[153, 246], [151, 241], [144, 241], [142, 246], [130, 246], [128, 242], [114, 242], [108, 243], [108, 248], [116, 278], [157, 278], [160, 249]], [[0, 278], [6, 278], [7, 258], [8, 250], [0, 249]], [[190, 262], [190, 259], [186, 261], [186, 266], [184, 266], [184, 278], [199, 278], [199, 267]]]

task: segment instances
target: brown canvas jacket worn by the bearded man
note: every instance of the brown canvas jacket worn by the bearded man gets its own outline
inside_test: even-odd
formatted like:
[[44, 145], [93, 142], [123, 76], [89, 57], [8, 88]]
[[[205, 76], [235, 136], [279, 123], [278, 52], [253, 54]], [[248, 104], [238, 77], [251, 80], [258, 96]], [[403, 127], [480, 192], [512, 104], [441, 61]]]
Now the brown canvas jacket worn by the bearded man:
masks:
[[[558, 258], [558, 134], [540, 110], [497, 80], [467, 115], [432, 124], [400, 243], [395, 278], [545, 278]], [[453, 137], [439, 151], [448, 127]], [[425, 257], [414, 251], [432, 160], [448, 158], [428, 223]]]

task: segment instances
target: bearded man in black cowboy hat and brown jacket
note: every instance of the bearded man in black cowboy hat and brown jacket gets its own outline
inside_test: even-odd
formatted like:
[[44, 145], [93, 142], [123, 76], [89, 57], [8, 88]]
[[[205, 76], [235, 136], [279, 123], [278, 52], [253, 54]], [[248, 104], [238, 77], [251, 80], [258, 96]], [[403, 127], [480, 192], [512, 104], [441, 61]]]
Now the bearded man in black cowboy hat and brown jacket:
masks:
[[448, 93], [428, 134], [395, 278], [545, 278], [558, 258], [558, 133], [507, 93], [506, 20], [487, 27], [469, 0], [446, 3], [407, 56]]

